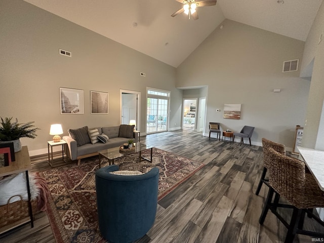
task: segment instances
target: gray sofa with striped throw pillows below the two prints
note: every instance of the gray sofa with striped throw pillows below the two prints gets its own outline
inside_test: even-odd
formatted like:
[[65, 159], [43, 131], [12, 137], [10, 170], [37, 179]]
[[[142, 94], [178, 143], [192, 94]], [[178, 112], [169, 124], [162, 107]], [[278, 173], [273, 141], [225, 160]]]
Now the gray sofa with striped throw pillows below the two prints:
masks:
[[134, 142], [138, 141], [138, 134], [133, 131], [134, 126], [120, 125], [95, 129], [98, 129], [99, 135], [105, 134], [108, 136], [109, 139], [106, 143], [99, 140], [93, 144], [88, 135], [88, 131], [93, 129], [88, 129], [88, 127], [69, 129], [69, 136], [63, 137], [63, 140], [67, 142], [67, 154], [71, 160], [77, 159], [77, 165], [80, 165], [82, 158], [98, 155], [99, 150], [121, 146], [123, 143], [128, 143], [129, 139], [133, 139]]

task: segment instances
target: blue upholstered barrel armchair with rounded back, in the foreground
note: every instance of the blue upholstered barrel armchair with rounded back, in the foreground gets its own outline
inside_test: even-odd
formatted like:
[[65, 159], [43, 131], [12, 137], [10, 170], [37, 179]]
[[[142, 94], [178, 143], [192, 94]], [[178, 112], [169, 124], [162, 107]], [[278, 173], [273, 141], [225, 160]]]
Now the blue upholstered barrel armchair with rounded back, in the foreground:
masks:
[[158, 168], [143, 175], [114, 175], [118, 166], [96, 171], [99, 229], [109, 242], [132, 242], [152, 227], [157, 206]]

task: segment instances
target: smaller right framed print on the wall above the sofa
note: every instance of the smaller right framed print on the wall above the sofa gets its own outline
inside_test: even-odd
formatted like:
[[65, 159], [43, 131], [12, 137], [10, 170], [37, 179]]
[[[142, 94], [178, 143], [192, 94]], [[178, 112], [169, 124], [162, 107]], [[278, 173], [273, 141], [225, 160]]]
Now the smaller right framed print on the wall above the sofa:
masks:
[[109, 94], [105, 92], [91, 91], [91, 114], [108, 114]]

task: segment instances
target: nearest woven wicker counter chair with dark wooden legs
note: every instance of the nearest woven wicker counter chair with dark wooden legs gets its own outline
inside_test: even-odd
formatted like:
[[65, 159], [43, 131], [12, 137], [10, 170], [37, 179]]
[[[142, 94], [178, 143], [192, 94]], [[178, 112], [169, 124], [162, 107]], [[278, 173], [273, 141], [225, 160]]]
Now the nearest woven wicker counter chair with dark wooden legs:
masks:
[[[266, 148], [269, 156], [269, 192], [266, 204], [259, 219], [262, 225], [267, 212], [271, 212], [288, 228], [285, 243], [293, 242], [296, 234], [313, 237], [324, 237], [324, 229], [320, 232], [303, 230], [305, 213], [324, 227], [324, 222], [312, 213], [313, 208], [324, 207], [324, 191], [320, 190], [314, 177], [305, 172], [305, 163], [299, 159], [278, 153], [272, 148]], [[286, 198], [290, 205], [271, 203], [273, 193]], [[293, 215], [288, 223], [277, 208], [293, 208]]]

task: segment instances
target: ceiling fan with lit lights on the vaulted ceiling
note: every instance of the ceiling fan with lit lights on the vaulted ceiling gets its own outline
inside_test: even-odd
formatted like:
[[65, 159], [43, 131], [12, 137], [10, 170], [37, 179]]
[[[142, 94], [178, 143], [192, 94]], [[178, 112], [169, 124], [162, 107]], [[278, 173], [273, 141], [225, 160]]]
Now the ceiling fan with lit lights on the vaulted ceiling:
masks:
[[192, 16], [194, 20], [198, 19], [198, 14], [196, 11], [196, 7], [206, 7], [206, 6], [214, 6], [216, 5], [216, 0], [210, 0], [210, 1], [198, 1], [195, 0], [176, 0], [179, 3], [183, 4], [183, 8], [179, 9], [177, 12], [173, 13], [171, 17], [175, 17], [178, 14], [185, 13], [186, 15]]

